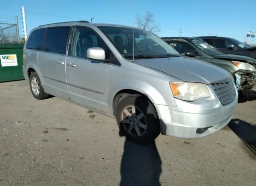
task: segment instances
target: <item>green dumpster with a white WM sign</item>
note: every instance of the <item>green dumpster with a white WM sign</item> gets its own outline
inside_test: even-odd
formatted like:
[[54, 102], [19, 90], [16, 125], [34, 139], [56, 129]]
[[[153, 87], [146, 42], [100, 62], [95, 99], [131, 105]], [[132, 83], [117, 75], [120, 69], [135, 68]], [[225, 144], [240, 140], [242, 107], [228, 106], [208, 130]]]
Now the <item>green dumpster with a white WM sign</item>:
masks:
[[0, 82], [23, 80], [24, 44], [0, 44]]

